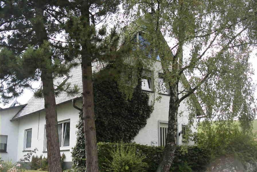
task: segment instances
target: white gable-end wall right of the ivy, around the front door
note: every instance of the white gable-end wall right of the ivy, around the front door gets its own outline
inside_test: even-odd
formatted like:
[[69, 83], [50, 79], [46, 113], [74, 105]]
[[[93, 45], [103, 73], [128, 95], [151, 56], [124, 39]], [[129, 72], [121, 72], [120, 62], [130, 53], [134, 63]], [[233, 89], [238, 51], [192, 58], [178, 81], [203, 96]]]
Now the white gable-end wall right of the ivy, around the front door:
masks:
[[[153, 70], [153, 79], [154, 79], [154, 85], [155, 89], [157, 89], [158, 85], [158, 74], [163, 73], [161, 70], [161, 62], [156, 61], [154, 64], [154, 70]], [[179, 83], [179, 90], [183, 90], [182, 83]], [[133, 142], [137, 142], [139, 144], [144, 145], [151, 145], [151, 141], [158, 142], [159, 145], [159, 136], [158, 136], [158, 121], [167, 121], [168, 122], [168, 112], [169, 112], [169, 101], [170, 96], [164, 95], [164, 94], [158, 94], [154, 92], [148, 92], [150, 97], [150, 103], [154, 102], [154, 110], [151, 114], [150, 118], [147, 119], [147, 124], [144, 128], [142, 128], [137, 136], [134, 138]], [[162, 96], [160, 102], [154, 101], [158, 96]], [[185, 100], [180, 103], [178, 113], [183, 112], [183, 115], [181, 117], [178, 117], [178, 132], [182, 130], [182, 125], [188, 124], [188, 111], [187, 106], [185, 104]], [[193, 132], [196, 131], [196, 116], [194, 119], [194, 125], [191, 128]], [[184, 144], [182, 142], [182, 135], [177, 136], [179, 144]], [[194, 144], [194, 142], [189, 141], [189, 145]]]

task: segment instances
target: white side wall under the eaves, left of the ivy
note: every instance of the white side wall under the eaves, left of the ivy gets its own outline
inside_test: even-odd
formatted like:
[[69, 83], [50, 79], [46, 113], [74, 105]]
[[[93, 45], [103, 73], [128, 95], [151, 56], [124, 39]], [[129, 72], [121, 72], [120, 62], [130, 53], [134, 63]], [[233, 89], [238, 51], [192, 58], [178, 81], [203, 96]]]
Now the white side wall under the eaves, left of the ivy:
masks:
[[[81, 106], [81, 100], [77, 100], [77, 106]], [[80, 105], [79, 105], [80, 104]], [[76, 124], [79, 119], [79, 110], [75, 109], [72, 106], [72, 102], [57, 105], [57, 120], [63, 121], [70, 119], [70, 146], [69, 148], [61, 149], [61, 154], [65, 154], [65, 162], [71, 161], [71, 148], [75, 146], [76, 143]], [[32, 128], [32, 140], [31, 140], [31, 149], [38, 148], [37, 155], [43, 155], [47, 157], [47, 153], [43, 151], [44, 149], [44, 127], [46, 124], [45, 112], [38, 112], [26, 117], [23, 117], [19, 120], [19, 137], [18, 137], [18, 154], [17, 160], [25, 155], [24, 151], [24, 131], [26, 129]]]

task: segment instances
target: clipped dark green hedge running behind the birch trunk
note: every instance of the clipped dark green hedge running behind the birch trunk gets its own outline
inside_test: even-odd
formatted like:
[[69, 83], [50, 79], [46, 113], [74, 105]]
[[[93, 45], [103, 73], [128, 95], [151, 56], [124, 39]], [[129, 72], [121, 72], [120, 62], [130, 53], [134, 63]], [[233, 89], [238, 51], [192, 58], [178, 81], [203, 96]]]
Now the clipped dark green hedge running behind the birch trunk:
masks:
[[[138, 152], [141, 152], [146, 157], [143, 160], [143, 162], [148, 164], [146, 171], [155, 172], [162, 156], [164, 147], [125, 143], [125, 146], [132, 145], [137, 148]], [[112, 156], [110, 152], [114, 150], [116, 146], [116, 143], [98, 143], [99, 170], [101, 172], [112, 171], [112, 169], [110, 169], [110, 164], [112, 162]], [[200, 149], [197, 146], [177, 146], [175, 155], [176, 157], [171, 168], [171, 171], [173, 172], [206, 171], [206, 166], [210, 161], [209, 151]]]

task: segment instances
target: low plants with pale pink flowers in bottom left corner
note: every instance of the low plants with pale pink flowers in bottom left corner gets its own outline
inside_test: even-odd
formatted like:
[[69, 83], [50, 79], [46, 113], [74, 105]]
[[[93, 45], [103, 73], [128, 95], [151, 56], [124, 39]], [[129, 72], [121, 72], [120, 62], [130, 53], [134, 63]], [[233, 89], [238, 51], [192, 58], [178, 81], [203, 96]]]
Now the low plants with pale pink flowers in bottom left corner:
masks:
[[1, 172], [24, 172], [22, 165], [19, 163], [12, 163], [11, 161], [1, 161], [0, 157], [0, 171]]

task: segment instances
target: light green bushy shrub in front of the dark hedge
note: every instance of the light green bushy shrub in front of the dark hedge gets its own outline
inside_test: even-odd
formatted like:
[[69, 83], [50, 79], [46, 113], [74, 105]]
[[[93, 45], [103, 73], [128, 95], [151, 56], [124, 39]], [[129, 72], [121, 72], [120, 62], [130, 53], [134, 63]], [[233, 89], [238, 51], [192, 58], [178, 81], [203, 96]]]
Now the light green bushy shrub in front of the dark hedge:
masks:
[[116, 150], [111, 152], [113, 172], [144, 172], [148, 167], [143, 162], [145, 156], [141, 151], [137, 151], [135, 146], [124, 147], [124, 143], [117, 144]]

